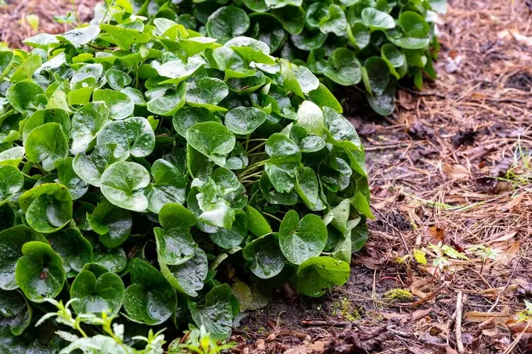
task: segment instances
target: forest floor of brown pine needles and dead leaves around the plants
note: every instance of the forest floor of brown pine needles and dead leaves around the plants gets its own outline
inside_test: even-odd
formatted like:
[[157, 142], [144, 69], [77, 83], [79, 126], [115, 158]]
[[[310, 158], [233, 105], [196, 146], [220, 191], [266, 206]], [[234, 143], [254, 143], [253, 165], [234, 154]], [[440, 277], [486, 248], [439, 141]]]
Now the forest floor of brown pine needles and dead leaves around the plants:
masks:
[[[44, 11], [38, 31], [57, 33], [50, 13], [72, 9], [11, 2], [0, 40], [12, 45], [35, 33], [24, 20], [13, 31], [13, 16]], [[235, 328], [236, 353], [531, 353], [532, 322], [516, 314], [532, 297], [532, 1], [448, 2], [436, 82], [399, 91], [387, 118], [354, 89], [343, 94], [377, 217], [350, 280], [321, 299], [279, 289]], [[76, 4], [90, 18], [94, 1]], [[482, 245], [494, 259], [467, 251], [435, 270], [428, 246], [439, 242]], [[405, 257], [414, 250], [426, 265]]]

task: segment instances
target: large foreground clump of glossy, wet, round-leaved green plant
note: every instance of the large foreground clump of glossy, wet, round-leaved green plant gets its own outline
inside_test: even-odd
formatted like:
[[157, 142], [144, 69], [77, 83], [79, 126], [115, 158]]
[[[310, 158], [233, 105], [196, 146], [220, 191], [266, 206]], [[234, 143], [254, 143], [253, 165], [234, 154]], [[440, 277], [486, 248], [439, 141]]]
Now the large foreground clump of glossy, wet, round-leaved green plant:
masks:
[[142, 20], [0, 51], [0, 348], [41, 350], [45, 299], [223, 339], [274, 287], [344, 284], [367, 239], [364, 150], [310, 70]]

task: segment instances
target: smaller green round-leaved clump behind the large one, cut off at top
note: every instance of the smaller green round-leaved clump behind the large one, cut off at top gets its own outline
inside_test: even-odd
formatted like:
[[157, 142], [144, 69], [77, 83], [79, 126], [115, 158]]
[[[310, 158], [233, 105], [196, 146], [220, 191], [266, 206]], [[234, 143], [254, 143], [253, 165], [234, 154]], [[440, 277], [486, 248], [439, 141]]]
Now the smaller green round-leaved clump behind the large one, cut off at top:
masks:
[[[123, 7], [107, 2], [107, 18], [124, 16]], [[238, 35], [261, 40], [328, 87], [357, 85], [385, 116], [394, 110], [399, 80], [421, 89], [423, 76], [436, 79], [435, 26], [446, 1], [136, 0], [126, 7], [126, 13], [172, 18], [221, 44]]]

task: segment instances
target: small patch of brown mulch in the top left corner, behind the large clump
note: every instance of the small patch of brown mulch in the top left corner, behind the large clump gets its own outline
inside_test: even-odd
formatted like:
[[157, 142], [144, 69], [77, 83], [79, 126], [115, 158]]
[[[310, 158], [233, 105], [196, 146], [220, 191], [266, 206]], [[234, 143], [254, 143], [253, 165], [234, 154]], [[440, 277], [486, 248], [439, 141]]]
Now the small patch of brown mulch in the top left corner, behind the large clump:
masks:
[[[64, 33], [72, 29], [68, 23], [54, 21], [54, 16], [65, 16], [73, 10], [70, 0], [3, 0], [0, 5], [0, 42], [11, 48], [26, 48], [22, 41], [38, 33]], [[2, 0], [0, 0], [1, 4]], [[80, 23], [90, 21], [96, 0], [75, 0]], [[39, 26], [35, 31], [26, 21], [26, 16], [37, 15]], [[75, 25], [75, 23], [74, 23]], [[27, 49], [27, 48], [26, 48]]]

